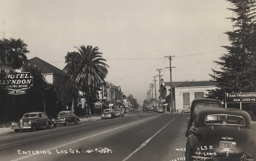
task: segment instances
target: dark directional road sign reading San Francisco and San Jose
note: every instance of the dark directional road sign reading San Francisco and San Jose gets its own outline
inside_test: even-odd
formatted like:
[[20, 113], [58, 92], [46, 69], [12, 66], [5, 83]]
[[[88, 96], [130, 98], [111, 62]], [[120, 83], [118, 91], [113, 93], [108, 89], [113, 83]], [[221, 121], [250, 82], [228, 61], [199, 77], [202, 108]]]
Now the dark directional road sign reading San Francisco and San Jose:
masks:
[[240, 109], [242, 109], [242, 103], [255, 103], [256, 93], [225, 93], [225, 108], [227, 103], [240, 103]]

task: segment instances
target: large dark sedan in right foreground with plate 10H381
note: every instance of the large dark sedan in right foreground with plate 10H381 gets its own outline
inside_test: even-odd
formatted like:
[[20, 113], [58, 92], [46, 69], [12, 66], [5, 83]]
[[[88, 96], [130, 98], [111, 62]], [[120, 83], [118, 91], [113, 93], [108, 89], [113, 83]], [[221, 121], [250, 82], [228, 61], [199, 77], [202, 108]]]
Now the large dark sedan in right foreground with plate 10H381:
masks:
[[186, 142], [186, 160], [254, 160], [255, 122], [240, 109], [205, 108], [195, 112]]

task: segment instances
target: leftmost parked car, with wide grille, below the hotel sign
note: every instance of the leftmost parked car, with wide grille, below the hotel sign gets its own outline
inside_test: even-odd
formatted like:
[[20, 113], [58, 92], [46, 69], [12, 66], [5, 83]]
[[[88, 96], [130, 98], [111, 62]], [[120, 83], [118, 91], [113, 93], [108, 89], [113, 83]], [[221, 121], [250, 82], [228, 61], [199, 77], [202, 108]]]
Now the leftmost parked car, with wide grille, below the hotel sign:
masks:
[[25, 113], [19, 122], [13, 122], [12, 127], [15, 133], [21, 130], [36, 131], [38, 128], [46, 127], [50, 129], [52, 121], [43, 112]]

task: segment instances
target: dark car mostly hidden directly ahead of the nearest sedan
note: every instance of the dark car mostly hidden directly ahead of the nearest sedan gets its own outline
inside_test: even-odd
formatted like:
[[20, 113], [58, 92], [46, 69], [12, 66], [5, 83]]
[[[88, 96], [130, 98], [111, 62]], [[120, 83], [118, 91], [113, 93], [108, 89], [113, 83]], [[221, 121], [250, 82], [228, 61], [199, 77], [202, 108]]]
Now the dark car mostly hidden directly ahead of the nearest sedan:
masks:
[[222, 104], [217, 99], [209, 99], [209, 98], [202, 98], [202, 99], [194, 99], [191, 102], [191, 109], [188, 118], [188, 126], [186, 131], [186, 137], [188, 137], [189, 128], [192, 126], [192, 122], [194, 120], [195, 111], [202, 108], [221, 108]]

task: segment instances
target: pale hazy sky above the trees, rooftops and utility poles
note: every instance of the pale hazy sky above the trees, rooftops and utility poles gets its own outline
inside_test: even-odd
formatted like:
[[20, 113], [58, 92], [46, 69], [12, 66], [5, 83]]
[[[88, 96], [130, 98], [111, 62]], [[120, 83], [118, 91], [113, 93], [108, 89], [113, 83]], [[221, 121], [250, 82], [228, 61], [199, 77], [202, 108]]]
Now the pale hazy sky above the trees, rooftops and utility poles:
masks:
[[0, 2], [0, 37], [5, 20], [5, 38], [22, 38], [28, 59], [37, 56], [63, 69], [74, 46], [98, 46], [110, 67], [106, 81], [140, 105], [158, 75], [155, 69], [164, 69], [162, 78], [170, 81], [164, 56], [175, 55], [172, 81], [198, 80], [198, 67], [199, 80], [211, 79], [211, 68], [219, 68], [212, 60], [226, 52], [220, 46], [229, 45], [223, 33], [232, 30], [224, 0]]

